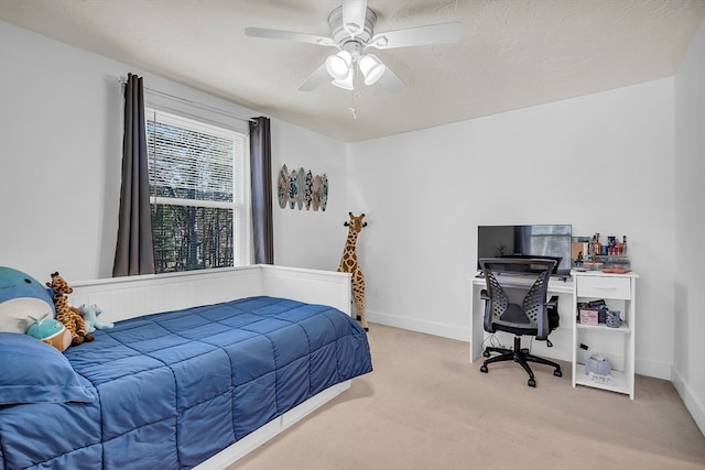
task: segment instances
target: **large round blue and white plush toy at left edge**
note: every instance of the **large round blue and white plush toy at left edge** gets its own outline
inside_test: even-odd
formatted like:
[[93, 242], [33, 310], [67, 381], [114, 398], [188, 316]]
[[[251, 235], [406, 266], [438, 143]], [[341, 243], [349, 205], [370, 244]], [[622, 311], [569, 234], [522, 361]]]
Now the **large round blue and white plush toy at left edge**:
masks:
[[25, 334], [30, 316], [54, 318], [50, 291], [34, 277], [0, 266], [0, 331]]

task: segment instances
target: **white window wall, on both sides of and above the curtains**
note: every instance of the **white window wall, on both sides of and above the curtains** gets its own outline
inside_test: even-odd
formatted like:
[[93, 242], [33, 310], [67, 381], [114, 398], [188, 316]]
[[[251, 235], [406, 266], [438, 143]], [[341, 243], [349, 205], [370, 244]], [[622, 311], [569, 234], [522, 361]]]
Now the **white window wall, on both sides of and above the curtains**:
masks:
[[[111, 275], [122, 160], [118, 77], [128, 73], [143, 76], [147, 88], [259, 116], [0, 21], [0, 265], [40, 281], [54, 271], [67, 280]], [[275, 259], [335, 270], [345, 240], [337, 222], [347, 217], [345, 146], [278, 120], [271, 125], [273, 168], [327, 172], [332, 190], [326, 212], [275, 207], [283, 245], [275, 245]]]

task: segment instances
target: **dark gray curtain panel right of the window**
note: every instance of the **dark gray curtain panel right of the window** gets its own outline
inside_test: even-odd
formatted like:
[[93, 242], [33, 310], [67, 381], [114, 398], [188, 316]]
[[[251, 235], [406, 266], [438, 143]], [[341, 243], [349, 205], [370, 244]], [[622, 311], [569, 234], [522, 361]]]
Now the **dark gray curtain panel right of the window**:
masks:
[[274, 264], [272, 144], [269, 118], [259, 117], [250, 120], [250, 172], [254, 263]]

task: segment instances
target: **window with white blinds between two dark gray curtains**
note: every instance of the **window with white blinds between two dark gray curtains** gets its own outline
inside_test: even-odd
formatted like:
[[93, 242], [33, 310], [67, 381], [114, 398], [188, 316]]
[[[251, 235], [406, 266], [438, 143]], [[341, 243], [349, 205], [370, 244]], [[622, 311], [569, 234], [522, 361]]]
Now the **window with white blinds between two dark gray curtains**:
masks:
[[156, 273], [249, 264], [246, 134], [145, 109]]

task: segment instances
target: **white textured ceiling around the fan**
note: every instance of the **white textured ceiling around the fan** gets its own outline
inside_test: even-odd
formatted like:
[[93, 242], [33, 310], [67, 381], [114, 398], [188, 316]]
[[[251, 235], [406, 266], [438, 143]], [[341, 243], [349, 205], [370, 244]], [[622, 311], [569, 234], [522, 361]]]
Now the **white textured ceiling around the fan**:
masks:
[[341, 142], [669, 77], [705, 21], [705, 0], [368, 0], [376, 32], [462, 23], [456, 44], [377, 53], [406, 84], [395, 94], [379, 84], [299, 91], [335, 50], [243, 32], [327, 36], [339, 3], [0, 0], [0, 20]]

